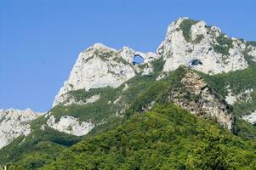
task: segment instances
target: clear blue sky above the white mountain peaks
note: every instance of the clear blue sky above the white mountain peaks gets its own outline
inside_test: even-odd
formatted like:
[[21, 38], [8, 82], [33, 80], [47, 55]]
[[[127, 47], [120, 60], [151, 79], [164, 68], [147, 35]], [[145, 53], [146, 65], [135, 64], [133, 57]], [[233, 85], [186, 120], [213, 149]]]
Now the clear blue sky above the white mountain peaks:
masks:
[[181, 16], [256, 40], [254, 0], [1, 0], [0, 108], [47, 111], [95, 42], [156, 51]]

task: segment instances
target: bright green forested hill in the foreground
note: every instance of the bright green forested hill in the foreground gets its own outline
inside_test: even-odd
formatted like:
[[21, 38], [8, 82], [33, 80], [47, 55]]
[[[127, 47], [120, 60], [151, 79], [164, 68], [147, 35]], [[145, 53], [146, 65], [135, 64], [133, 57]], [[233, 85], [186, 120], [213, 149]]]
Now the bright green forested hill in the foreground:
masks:
[[[255, 145], [174, 105], [85, 139], [42, 169], [254, 169]], [[29, 169], [25, 162], [13, 169]]]

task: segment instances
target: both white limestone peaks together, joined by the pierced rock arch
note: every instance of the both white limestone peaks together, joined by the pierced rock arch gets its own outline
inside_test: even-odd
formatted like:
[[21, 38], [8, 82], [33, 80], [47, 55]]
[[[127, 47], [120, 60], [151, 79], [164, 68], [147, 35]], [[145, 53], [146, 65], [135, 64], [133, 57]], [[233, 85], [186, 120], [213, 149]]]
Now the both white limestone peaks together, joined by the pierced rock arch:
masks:
[[[174, 71], [179, 65], [207, 74], [242, 70], [248, 67], [245, 49], [247, 42], [228, 37], [216, 26], [208, 26], [203, 20], [179, 18], [168, 26], [157, 54], [144, 54], [128, 47], [116, 50], [101, 43], [82, 51], [53, 106], [65, 102], [70, 91], [117, 88], [138, 73], [149, 74], [153, 71], [151, 61], [160, 57], [165, 61], [163, 72]], [[256, 59], [256, 49], [250, 49], [248, 54], [255, 54]], [[133, 65], [135, 55], [143, 58], [143, 69]]]

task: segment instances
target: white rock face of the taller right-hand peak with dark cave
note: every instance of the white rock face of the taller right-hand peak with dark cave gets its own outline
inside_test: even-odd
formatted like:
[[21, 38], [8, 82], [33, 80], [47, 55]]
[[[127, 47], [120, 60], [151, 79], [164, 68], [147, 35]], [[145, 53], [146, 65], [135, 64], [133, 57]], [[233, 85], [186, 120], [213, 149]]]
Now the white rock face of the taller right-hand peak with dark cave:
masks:
[[157, 52], [166, 60], [163, 71], [174, 71], [179, 65], [186, 65], [216, 74], [247, 68], [242, 53], [245, 48], [245, 42], [228, 38], [218, 27], [181, 18], [168, 26], [165, 40]]

